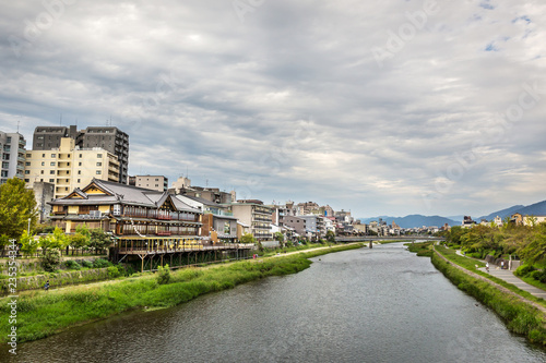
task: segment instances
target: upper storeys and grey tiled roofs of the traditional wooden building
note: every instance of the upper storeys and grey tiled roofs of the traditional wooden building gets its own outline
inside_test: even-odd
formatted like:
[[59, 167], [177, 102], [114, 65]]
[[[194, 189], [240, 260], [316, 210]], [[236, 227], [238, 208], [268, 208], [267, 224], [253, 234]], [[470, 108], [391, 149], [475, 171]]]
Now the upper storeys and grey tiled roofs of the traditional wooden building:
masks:
[[67, 233], [86, 225], [140, 247], [158, 239], [169, 243], [199, 239], [201, 211], [165, 192], [94, 179], [50, 204], [51, 220]]

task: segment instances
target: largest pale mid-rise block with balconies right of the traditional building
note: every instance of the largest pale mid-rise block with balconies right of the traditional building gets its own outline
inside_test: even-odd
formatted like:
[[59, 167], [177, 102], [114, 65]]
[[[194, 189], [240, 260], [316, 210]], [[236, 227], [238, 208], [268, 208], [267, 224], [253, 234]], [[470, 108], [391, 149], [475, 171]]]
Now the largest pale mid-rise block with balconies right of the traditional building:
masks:
[[240, 222], [250, 226], [250, 233], [258, 241], [268, 241], [273, 238], [271, 221], [273, 209], [263, 205], [262, 201], [245, 199], [230, 205], [234, 217]]

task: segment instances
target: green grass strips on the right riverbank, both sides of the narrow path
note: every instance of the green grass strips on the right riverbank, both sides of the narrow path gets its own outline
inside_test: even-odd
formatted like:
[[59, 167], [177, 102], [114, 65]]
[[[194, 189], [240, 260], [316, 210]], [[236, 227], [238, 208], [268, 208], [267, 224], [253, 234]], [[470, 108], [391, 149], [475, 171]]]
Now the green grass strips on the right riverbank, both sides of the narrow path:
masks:
[[[441, 246], [435, 247], [431, 242], [427, 242], [414, 244], [413, 246], [410, 245], [410, 251], [420, 252], [422, 255], [430, 255], [431, 262], [438, 270], [449, 278], [459, 289], [490, 307], [505, 320], [509, 330], [525, 336], [533, 343], [546, 347], [546, 320], [543, 312], [525, 303], [522, 299], [503, 292], [494, 285], [468, 275], [454, 267], [453, 264], [474, 274], [482, 275], [525, 297], [527, 300], [546, 306], [544, 299], [537, 299], [510, 283], [479, 271], [477, 267], [482, 267], [484, 265], [483, 263], [459, 256], [453, 250]], [[444, 261], [440, 255], [446, 257], [449, 262]]]

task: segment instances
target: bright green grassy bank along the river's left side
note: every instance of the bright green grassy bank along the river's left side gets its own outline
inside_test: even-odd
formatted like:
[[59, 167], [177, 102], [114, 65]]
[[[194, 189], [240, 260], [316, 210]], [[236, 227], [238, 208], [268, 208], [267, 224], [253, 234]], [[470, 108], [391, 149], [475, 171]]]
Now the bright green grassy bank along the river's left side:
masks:
[[[199, 295], [230, 289], [269, 276], [295, 274], [308, 268], [309, 257], [359, 249], [363, 244], [341, 245], [301, 254], [237, 262], [206, 269], [187, 268], [170, 273], [169, 283], [158, 285], [155, 275], [112, 283], [81, 286], [63, 290], [33, 291], [21, 295], [16, 304], [17, 341], [46, 338], [70, 327], [104, 319], [131, 310], [170, 307]], [[0, 315], [11, 312], [2, 299]], [[10, 326], [0, 327], [5, 342]]]

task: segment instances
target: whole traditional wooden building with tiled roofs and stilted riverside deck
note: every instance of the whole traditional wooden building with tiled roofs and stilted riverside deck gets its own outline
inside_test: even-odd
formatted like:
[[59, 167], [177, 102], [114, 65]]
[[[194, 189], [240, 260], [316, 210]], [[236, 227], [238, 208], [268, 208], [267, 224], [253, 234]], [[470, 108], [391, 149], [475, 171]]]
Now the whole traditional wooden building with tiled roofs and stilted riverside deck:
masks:
[[[50, 202], [51, 220], [67, 233], [75, 232], [79, 225], [90, 229], [100, 228], [112, 237], [110, 258], [121, 262], [139, 256], [141, 270], [147, 263], [150, 269], [159, 264], [164, 257], [178, 259], [182, 264], [182, 255], [195, 263], [198, 254], [206, 259], [206, 251], [250, 249], [238, 244], [230, 246], [209, 246], [202, 243], [200, 228], [202, 211], [168, 192], [158, 192], [142, 187], [119, 184], [94, 179], [83, 189], [75, 189], [69, 195]], [[235, 251], [237, 258], [238, 251]], [[154, 261], [155, 257], [157, 261]]]

